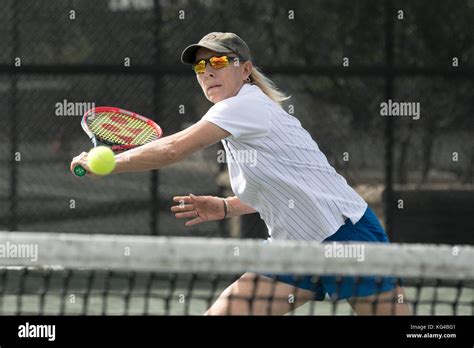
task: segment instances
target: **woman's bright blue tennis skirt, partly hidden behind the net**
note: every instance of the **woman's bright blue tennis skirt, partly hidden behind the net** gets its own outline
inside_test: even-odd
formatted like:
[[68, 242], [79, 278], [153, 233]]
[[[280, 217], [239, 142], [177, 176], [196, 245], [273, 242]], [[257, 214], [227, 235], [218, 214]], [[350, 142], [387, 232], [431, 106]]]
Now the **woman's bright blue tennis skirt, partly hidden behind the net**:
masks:
[[[334, 242], [374, 242], [389, 243], [388, 236], [372, 209], [367, 208], [362, 218], [354, 225], [350, 219], [336, 233], [326, 238], [323, 243]], [[354, 259], [354, 262], [358, 262]], [[350, 297], [364, 297], [384, 291], [393, 290], [400, 284], [394, 277], [375, 276], [320, 276], [263, 274], [283, 283], [294, 285], [315, 293], [315, 300], [322, 301], [326, 294], [332, 300], [343, 300]]]

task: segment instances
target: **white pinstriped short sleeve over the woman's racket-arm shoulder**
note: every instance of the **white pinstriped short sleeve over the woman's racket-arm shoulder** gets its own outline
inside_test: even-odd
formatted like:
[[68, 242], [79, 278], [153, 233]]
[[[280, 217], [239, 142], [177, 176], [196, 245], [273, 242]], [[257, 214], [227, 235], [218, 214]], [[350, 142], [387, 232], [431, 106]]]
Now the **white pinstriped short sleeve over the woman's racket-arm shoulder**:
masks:
[[237, 95], [216, 103], [202, 120], [228, 131], [234, 139], [262, 137], [271, 128], [268, 107], [258, 94]]

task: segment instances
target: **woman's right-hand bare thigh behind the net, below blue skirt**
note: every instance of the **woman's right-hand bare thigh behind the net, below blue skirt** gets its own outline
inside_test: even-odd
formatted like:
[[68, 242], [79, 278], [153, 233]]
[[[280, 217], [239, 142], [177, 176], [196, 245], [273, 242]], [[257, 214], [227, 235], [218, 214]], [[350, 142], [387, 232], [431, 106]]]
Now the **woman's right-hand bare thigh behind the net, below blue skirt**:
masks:
[[411, 309], [405, 301], [403, 288], [381, 292], [377, 295], [354, 297], [347, 302], [357, 315], [411, 315]]

